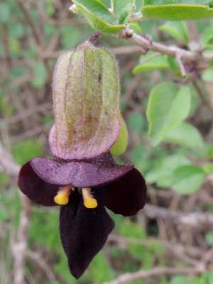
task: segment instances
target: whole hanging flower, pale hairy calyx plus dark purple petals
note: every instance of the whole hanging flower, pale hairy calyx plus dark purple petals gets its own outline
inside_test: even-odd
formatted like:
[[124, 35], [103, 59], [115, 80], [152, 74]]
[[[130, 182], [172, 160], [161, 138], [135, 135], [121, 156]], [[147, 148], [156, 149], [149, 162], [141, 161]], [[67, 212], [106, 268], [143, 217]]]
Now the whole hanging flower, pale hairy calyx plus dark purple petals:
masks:
[[18, 186], [33, 202], [61, 205], [60, 237], [70, 272], [80, 278], [102, 249], [114, 222], [146, 203], [146, 183], [111, 154], [126, 150], [128, 132], [119, 109], [119, 68], [92, 37], [58, 58], [53, 72], [53, 160], [34, 158], [21, 168]]

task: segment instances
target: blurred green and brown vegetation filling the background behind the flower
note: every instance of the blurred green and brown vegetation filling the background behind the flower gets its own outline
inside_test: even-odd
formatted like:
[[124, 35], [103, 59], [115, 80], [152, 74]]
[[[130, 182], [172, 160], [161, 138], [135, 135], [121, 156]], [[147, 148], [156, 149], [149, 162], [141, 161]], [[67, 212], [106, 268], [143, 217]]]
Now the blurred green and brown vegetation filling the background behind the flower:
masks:
[[[109, 4], [108, 0], [102, 2]], [[136, 4], [139, 7], [141, 1]], [[17, 242], [22, 238], [18, 234], [22, 202], [14, 165], [5, 167], [6, 151], [18, 165], [38, 155], [50, 155], [55, 60], [93, 31], [85, 18], [68, 10], [69, 6], [67, 0], [0, 3], [2, 284], [16, 283]], [[211, 18], [185, 22], [150, 19], [131, 27], [165, 45], [197, 50], [199, 57], [203, 49], [211, 52], [213, 48], [212, 24]], [[33, 205], [27, 213], [28, 231], [23, 231], [28, 240], [24, 281], [212, 284], [211, 62], [197, 69], [193, 62], [181, 63], [180, 58], [153, 51], [143, 54], [142, 48], [107, 33], [99, 44], [116, 54], [120, 67], [121, 109], [129, 128], [129, 148], [118, 162], [133, 163], [141, 170], [148, 182], [148, 204], [129, 219], [111, 213], [116, 229], [80, 280], [68, 271], [58, 233], [58, 209]], [[125, 282], [121, 278], [110, 282], [136, 271], [142, 274], [135, 280], [125, 280], [124, 275]], [[144, 271], [151, 275], [145, 277]]]

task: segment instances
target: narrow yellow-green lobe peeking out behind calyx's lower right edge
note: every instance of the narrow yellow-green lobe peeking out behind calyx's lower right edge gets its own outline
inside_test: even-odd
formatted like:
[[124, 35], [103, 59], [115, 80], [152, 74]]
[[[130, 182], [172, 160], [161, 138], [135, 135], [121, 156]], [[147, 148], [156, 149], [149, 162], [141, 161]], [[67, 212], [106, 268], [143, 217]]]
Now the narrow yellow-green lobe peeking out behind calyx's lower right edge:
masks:
[[126, 123], [119, 114], [119, 120], [121, 122], [121, 130], [119, 133], [119, 137], [116, 140], [116, 143], [114, 143], [114, 146], [111, 147], [110, 153], [113, 156], [121, 155], [126, 151], [127, 145], [128, 145], [128, 131], [126, 127]]

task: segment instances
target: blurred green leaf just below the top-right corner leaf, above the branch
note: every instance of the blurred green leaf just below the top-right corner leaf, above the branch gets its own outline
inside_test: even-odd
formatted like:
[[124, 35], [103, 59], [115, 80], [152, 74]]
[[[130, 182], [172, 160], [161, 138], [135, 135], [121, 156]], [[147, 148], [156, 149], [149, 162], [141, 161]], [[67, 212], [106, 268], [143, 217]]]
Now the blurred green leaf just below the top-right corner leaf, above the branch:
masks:
[[189, 40], [187, 26], [184, 22], [168, 21], [164, 25], [160, 26], [159, 30], [168, 33], [176, 40], [180, 40], [182, 43], [187, 43]]

